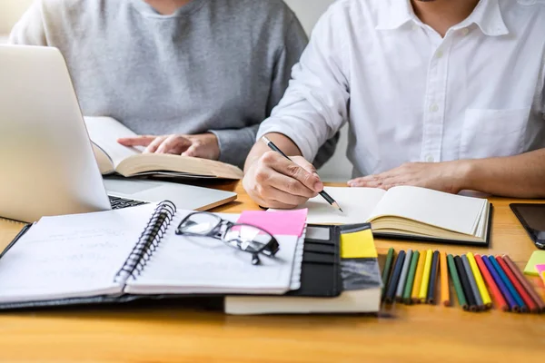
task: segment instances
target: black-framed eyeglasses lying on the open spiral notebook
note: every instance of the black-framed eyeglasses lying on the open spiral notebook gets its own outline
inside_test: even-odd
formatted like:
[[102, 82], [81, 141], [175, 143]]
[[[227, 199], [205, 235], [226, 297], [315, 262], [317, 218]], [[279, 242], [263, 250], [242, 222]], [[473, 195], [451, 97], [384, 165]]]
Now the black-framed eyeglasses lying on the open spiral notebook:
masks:
[[176, 234], [222, 240], [234, 249], [251, 253], [253, 265], [261, 263], [260, 253], [274, 257], [280, 250], [278, 241], [268, 231], [250, 224], [226, 221], [204, 211], [191, 213], [185, 217], [176, 229]]

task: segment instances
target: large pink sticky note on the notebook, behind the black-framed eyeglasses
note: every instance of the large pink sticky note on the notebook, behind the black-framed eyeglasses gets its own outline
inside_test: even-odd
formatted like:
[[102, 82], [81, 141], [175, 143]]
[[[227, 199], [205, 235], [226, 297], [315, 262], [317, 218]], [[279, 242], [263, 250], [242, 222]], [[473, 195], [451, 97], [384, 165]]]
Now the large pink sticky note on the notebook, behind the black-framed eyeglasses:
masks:
[[251, 224], [272, 234], [302, 235], [308, 209], [297, 211], [243, 211], [237, 223]]

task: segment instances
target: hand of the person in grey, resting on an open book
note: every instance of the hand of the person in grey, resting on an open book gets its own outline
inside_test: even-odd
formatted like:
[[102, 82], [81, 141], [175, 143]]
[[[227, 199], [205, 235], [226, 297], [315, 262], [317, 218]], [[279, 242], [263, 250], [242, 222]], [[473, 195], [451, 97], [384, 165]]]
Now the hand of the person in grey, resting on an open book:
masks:
[[124, 146], [144, 146], [144, 153], [171, 153], [210, 160], [220, 158], [218, 138], [212, 132], [197, 135], [134, 136], [120, 138]]

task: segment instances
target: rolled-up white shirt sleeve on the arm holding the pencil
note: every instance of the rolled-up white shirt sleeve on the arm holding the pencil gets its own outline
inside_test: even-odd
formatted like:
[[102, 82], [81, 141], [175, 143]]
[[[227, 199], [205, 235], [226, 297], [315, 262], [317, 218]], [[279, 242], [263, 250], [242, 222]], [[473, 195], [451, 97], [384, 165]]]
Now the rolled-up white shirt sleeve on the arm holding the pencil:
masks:
[[338, 22], [331, 11], [322, 15], [301, 61], [292, 69], [282, 101], [261, 124], [258, 140], [267, 133], [282, 133], [312, 161], [348, 120], [349, 77], [342, 61], [348, 55]]

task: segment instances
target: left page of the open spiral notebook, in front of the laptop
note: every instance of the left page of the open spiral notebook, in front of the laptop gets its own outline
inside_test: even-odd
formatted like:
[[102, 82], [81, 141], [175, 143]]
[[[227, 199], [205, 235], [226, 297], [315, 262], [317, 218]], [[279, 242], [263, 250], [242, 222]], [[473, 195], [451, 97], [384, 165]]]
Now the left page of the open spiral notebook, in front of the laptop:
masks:
[[155, 205], [38, 221], [0, 259], [0, 302], [120, 293], [114, 283]]

